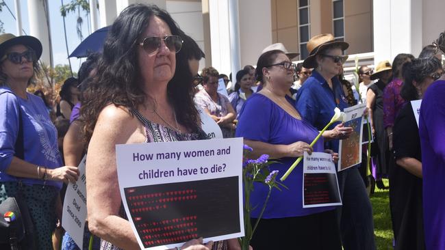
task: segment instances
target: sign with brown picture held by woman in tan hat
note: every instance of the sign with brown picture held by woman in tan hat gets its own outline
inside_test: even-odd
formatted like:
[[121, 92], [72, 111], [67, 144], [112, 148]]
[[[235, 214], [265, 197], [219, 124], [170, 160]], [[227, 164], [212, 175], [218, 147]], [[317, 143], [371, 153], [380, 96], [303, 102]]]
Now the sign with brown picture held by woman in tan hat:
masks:
[[353, 167], [361, 163], [361, 141], [363, 141], [363, 112], [364, 103], [344, 109], [346, 115], [344, 126], [352, 127], [353, 133], [348, 139], [340, 140], [338, 147], [338, 171]]

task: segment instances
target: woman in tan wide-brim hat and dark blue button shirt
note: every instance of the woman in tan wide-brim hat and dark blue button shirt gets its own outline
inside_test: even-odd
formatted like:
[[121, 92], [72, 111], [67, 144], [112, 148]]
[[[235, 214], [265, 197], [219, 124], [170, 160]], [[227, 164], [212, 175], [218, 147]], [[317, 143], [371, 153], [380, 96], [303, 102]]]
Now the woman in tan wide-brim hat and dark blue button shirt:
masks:
[[[340, 110], [348, 107], [337, 77], [346, 59], [342, 53], [348, 46], [331, 34], [314, 36], [307, 43], [309, 56], [303, 67], [314, 70], [297, 92], [296, 109], [318, 130], [329, 123], [335, 107]], [[338, 123], [329, 129], [323, 133], [327, 148], [338, 152], [340, 139], [348, 138], [353, 128]], [[343, 203], [338, 214], [344, 249], [375, 249], [372, 208], [358, 169], [351, 167], [338, 172], [338, 182]]]

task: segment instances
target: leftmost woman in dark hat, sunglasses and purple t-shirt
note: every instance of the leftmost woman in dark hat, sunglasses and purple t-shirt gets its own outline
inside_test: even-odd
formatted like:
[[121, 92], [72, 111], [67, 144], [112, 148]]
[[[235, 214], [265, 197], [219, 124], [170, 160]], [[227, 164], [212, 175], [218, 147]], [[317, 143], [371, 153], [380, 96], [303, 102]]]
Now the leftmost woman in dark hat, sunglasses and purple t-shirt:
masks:
[[37, 38], [0, 36], [0, 203], [21, 192], [36, 229], [36, 249], [52, 249], [62, 182], [75, 182], [79, 174], [77, 167], [60, 167], [57, 130], [47, 107], [26, 92], [39, 72], [40, 55]]

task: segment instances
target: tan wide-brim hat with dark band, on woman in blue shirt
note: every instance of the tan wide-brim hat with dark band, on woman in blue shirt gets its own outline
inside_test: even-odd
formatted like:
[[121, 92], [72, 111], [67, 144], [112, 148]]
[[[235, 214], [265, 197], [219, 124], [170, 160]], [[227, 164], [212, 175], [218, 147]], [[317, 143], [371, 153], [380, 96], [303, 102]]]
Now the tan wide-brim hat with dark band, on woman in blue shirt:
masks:
[[340, 46], [342, 51], [345, 51], [349, 47], [349, 44], [343, 41], [336, 41], [332, 34], [329, 33], [314, 36], [306, 44], [309, 56], [303, 61], [303, 67], [316, 68], [316, 55], [327, 46]]

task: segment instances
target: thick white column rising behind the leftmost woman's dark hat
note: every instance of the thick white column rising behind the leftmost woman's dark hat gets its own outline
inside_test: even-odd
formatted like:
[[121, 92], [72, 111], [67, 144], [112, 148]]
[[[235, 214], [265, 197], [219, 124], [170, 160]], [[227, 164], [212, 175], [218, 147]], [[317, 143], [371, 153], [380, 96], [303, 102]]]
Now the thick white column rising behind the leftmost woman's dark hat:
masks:
[[47, 0], [28, 0], [29, 33], [42, 43], [40, 61], [47, 66], [53, 66], [53, 53], [49, 36], [49, 10]]

